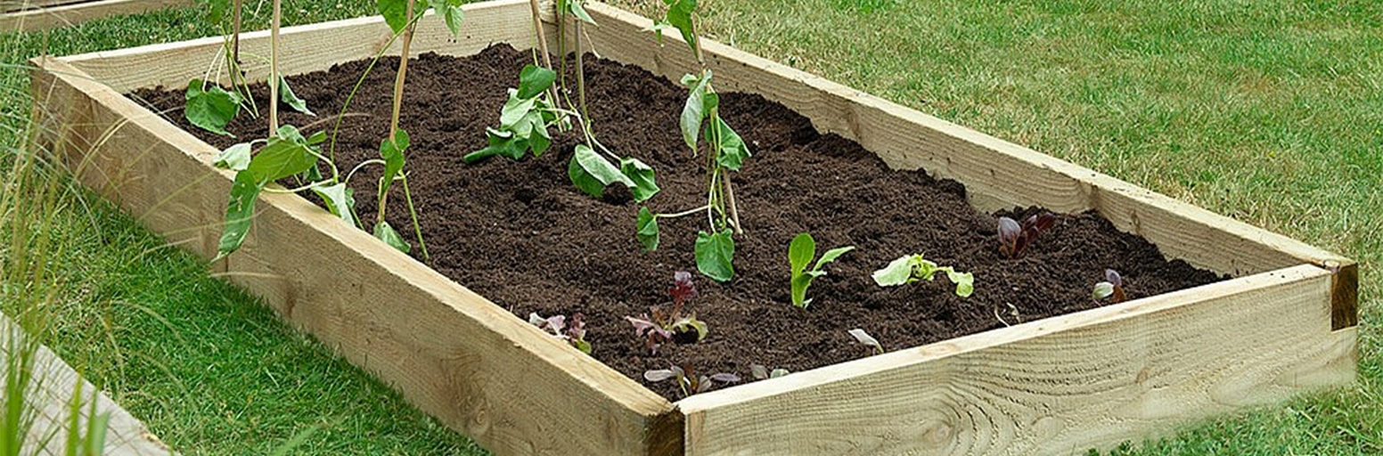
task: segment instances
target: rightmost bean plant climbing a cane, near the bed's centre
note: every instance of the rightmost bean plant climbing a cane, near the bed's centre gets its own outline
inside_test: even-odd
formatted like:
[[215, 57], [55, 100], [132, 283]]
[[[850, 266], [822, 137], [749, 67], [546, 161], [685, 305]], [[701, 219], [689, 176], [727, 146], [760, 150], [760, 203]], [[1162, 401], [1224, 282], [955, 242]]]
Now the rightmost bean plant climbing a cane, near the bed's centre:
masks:
[[704, 137], [707, 141], [707, 203], [674, 214], [654, 214], [643, 207], [639, 210], [635, 232], [644, 250], [654, 250], [658, 246], [658, 218], [705, 211], [709, 231], [697, 234], [694, 247], [697, 271], [718, 282], [727, 282], [734, 276], [733, 235], [744, 232], [734, 202], [730, 173], [740, 170], [744, 160], [750, 158], [750, 149], [740, 134], [721, 117], [721, 95], [715, 91], [714, 75], [705, 64], [705, 51], [698, 35], [700, 15], [696, 0], [662, 0], [662, 3], [668, 6], [667, 15], [649, 30], [657, 35], [658, 43], [662, 43], [664, 30], [679, 30], [682, 39], [696, 54], [698, 65], [698, 73], [682, 76], [682, 84], [687, 87], [687, 101], [682, 108], [680, 127], [682, 140], [692, 148], [693, 155], [698, 152], [700, 138]]

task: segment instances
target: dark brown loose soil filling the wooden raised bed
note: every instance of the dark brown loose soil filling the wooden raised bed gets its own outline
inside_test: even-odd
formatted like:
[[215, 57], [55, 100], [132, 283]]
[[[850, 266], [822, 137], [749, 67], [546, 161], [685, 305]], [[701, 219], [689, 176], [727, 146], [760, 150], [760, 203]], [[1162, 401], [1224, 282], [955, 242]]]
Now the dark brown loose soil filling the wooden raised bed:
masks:
[[[870, 350], [846, 334], [853, 327], [900, 350], [1082, 311], [1099, 305], [1090, 292], [1104, 281], [1105, 268], [1123, 274], [1134, 298], [1221, 279], [1180, 260], [1166, 261], [1156, 246], [1093, 213], [1061, 216], [1026, 257], [1008, 260], [997, 251], [996, 217], [1039, 209], [979, 213], [967, 205], [960, 182], [889, 170], [860, 145], [817, 133], [806, 117], [779, 104], [729, 93], [721, 113], [754, 153], [733, 175], [744, 224], [744, 235], [734, 239], [736, 276], [716, 283], [694, 275], [700, 296], [689, 308], [709, 325], [709, 336], [697, 344], [665, 344], [651, 355], [624, 316], [671, 307], [672, 275], [696, 272], [693, 240], [707, 220], [700, 214], [661, 220], [662, 245], [642, 251], [633, 236], [639, 205], [626, 189], [614, 185], [595, 199], [570, 184], [567, 162], [578, 141], [571, 133], [542, 158], [462, 163], [463, 155], [485, 146], [485, 127], [498, 124], [506, 88], [517, 86], [528, 62], [528, 51], [499, 44], [466, 58], [423, 54], [408, 65], [407, 171], [431, 253], [427, 263], [520, 318], [585, 314], [596, 359], [674, 401], [680, 392], [671, 381], [649, 384], [643, 372], [692, 363], [698, 372], [729, 372], [748, 381], [754, 363], [799, 372], [869, 357]], [[311, 109], [328, 116], [340, 111], [366, 65], [342, 64], [289, 82]], [[701, 160], [692, 156], [678, 127], [686, 90], [640, 68], [597, 58], [586, 65], [600, 141], [657, 169], [662, 192], [647, 206], [674, 213], [704, 205]], [[365, 116], [344, 120], [336, 149], [342, 170], [379, 158], [396, 68], [397, 59], [382, 61], [351, 102], [350, 112]], [[267, 111], [266, 86], [253, 93]], [[219, 148], [268, 134], [264, 119], [245, 113], [228, 127], [241, 140], [192, 127], [181, 113], [181, 90], [141, 90], [131, 97]], [[295, 126], [322, 119], [284, 115]], [[375, 218], [380, 173], [368, 167], [350, 184], [361, 220]], [[411, 227], [408, 207], [398, 185], [393, 191], [400, 195], [390, 198], [387, 220], [412, 240], [404, 229]], [[787, 246], [801, 232], [816, 238], [819, 253], [856, 246], [826, 267], [830, 275], [812, 285], [815, 300], [806, 310], [788, 298]], [[945, 275], [898, 287], [870, 279], [891, 260], [913, 253], [974, 272], [974, 296], [953, 294]], [[416, 246], [414, 254], [420, 256]]]

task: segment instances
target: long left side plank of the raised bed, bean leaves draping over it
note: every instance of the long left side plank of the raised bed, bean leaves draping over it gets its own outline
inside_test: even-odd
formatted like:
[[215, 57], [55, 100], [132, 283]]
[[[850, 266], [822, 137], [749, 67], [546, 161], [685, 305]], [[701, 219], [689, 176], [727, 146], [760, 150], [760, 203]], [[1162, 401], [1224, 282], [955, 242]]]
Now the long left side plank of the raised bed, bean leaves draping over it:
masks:
[[[33, 75], [44, 144], [210, 257], [232, 178], [209, 164], [217, 151], [72, 65], [33, 64], [48, 70]], [[299, 196], [264, 195], [257, 211], [223, 275], [496, 455], [680, 449], [672, 405], [633, 380]]]

